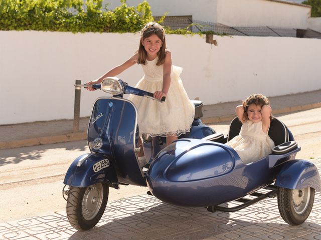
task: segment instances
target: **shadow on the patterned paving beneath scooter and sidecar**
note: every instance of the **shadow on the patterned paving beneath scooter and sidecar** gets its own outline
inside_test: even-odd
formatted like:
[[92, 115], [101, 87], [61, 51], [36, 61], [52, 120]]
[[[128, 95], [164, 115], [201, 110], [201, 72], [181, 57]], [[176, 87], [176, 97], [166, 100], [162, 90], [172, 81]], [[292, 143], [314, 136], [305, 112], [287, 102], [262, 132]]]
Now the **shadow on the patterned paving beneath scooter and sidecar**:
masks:
[[[144, 209], [143, 205], [139, 208], [130, 201], [137, 203], [131, 198], [118, 202], [118, 206], [116, 202], [112, 203], [111, 209], [107, 206], [99, 226], [77, 231], [68, 239], [290, 239], [301, 236], [315, 239], [313, 237], [321, 234], [321, 226], [308, 220], [298, 226], [284, 223], [276, 215], [277, 205], [276, 209], [274, 206], [274, 210], [265, 211], [261, 208], [266, 206], [264, 201], [238, 213], [208, 212], [202, 207], [165, 203]], [[131, 214], [131, 211], [135, 213]]]

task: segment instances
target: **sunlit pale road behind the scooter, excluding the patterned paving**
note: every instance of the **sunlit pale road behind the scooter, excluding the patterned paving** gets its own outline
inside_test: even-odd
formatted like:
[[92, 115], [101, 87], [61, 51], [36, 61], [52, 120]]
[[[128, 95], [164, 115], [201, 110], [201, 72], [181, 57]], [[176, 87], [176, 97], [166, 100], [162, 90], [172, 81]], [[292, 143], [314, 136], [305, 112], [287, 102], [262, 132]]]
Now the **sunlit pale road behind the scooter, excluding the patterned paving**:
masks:
[[[278, 116], [292, 131], [302, 150], [297, 158], [321, 157], [321, 108]], [[226, 133], [228, 122], [211, 125]], [[86, 141], [0, 150], [0, 202], [7, 207], [0, 221], [64, 210], [63, 178], [70, 163], [88, 152]], [[31, 194], [32, 193], [32, 194]], [[146, 193], [145, 187], [111, 189], [109, 201]], [[21, 208], [24, 211], [21, 211]]]

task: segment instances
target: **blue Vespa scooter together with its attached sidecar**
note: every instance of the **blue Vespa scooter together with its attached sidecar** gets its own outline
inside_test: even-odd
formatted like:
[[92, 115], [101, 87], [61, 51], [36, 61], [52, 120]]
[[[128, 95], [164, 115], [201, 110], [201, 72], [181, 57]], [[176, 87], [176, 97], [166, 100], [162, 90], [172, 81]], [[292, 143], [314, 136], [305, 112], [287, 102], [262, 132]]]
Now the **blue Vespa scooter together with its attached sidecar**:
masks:
[[[76, 229], [93, 227], [105, 210], [108, 187], [119, 189], [121, 184], [147, 186], [163, 202], [209, 211], [238, 211], [277, 197], [280, 215], [288, 224], [301, 224], [309, 216], [314, 193], [321, 191], [318, 169], [308, 160], [295, 158], [301, 148], [277, 118], [271, 120], [268, 131], [275, 143], [272, 152], [247, 164], [224, 144], [239, 134], [242, 123], [235, 118], [227, 135], [216, 133], [200, 120], [202, 102], [196, 102], [188, 135], [166, 147], [162, 139], [145, 136], [140, 146], [136, 108], [122, 97], [132, 93], [152, 98], [152, 93], [115, 77], [93, 86], [113, 96], [96, 100], [87, 136], [91, 153], [76, 158], [64, 180], [69, 186], [64, 190], [67, 216]], [[148, 169], [137, 157], [142, 146]], [[225, 204], [231, 201], [234, 206]]]

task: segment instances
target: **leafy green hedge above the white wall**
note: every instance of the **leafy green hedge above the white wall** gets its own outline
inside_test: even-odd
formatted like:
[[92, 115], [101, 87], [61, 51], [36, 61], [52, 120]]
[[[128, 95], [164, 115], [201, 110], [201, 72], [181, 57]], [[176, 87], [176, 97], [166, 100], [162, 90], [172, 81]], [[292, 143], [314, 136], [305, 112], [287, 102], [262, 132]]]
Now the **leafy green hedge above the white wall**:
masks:
[[102, 0], [1, 0], [0, 30], [72, 32], [136, 32], [152, 21], [150, 6], [143, 1], [114, 10]]

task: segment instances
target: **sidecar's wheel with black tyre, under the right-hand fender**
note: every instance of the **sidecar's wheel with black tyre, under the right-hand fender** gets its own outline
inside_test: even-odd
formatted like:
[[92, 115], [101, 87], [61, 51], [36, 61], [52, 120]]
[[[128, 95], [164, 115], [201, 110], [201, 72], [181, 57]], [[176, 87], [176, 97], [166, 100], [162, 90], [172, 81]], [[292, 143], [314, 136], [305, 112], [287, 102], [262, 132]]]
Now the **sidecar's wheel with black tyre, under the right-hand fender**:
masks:
[[309, 216], [314, 201], [314, 189], [278, 187], [277, 204], [283, 220], [290, 225], [303, 223]]

